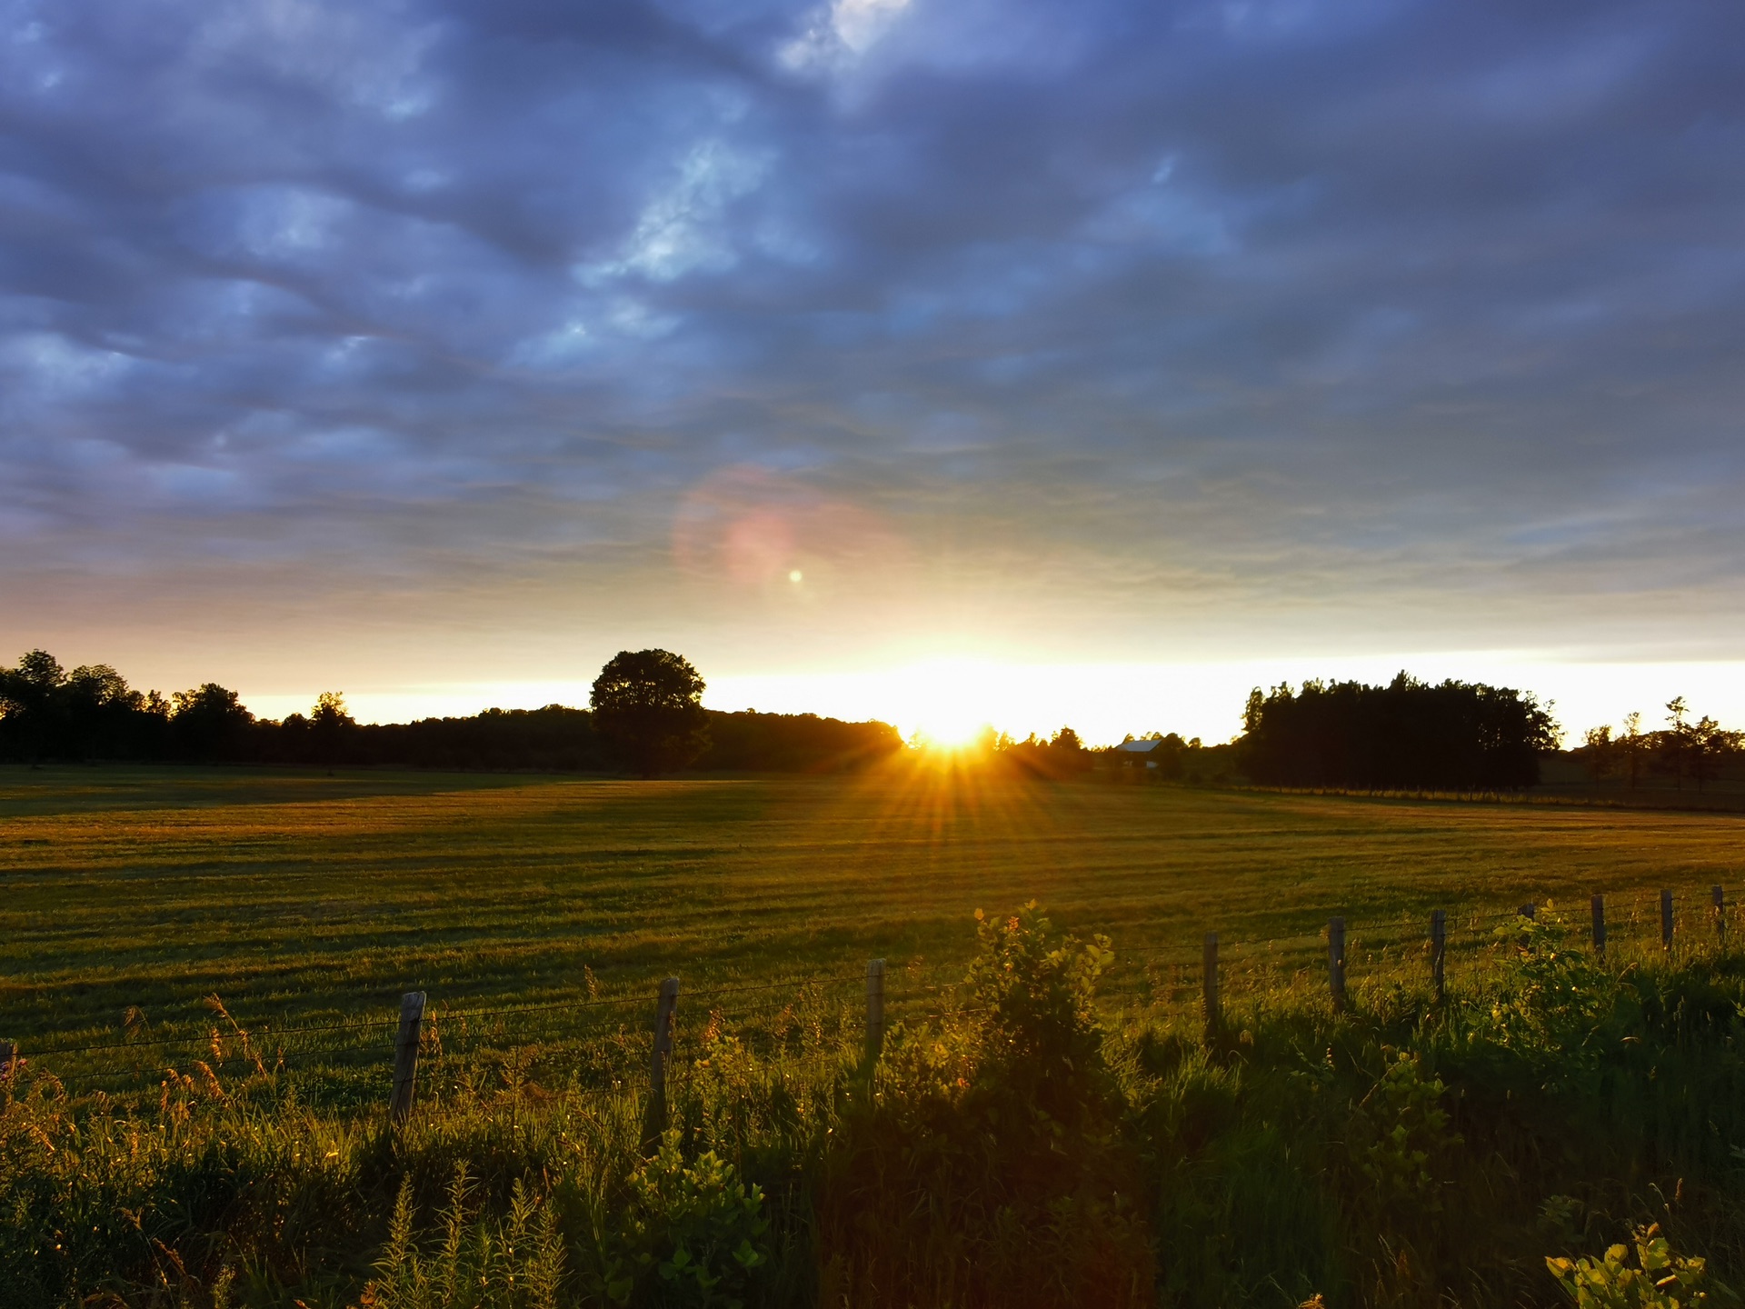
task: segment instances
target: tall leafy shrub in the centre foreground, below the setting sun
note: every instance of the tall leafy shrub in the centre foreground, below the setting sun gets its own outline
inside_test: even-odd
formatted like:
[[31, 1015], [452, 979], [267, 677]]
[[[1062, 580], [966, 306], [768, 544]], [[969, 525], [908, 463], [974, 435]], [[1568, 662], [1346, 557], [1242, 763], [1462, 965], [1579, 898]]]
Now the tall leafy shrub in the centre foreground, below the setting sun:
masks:
[[967, 1007], [895, 1026], [825, 1155], [822, 1297], [850, 1306], [1150, 1304], [1127, 1105], [1105, 1059], [1101, 937], [977, 915]]

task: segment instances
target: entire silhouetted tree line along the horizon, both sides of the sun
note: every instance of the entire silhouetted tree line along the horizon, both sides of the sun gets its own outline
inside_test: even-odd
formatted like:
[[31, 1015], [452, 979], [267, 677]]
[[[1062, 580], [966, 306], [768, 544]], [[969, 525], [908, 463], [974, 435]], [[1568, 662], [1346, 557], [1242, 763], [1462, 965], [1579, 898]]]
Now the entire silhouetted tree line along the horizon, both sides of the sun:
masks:
[[[609, 771], [654, 777], [701, 771], [832, 771], [902, 749], [886, 723], [815, 714], [724, 714], [701, 705], [703, 679], [670, 651], [621, 651], [595, 679], [588, 709], [487, 709], [466, 717], [361, 724], [344, 696], [323, 693], [307, 714], [255, 717], [236, 691], [204, 682], [162, 696], [136, 691], [110, 665], [66, 670], [47, 651], [0, 668], [0, 759], [181, 761], [447, 770]], [[1558, 749], [1550, 712], [1523, 691], [1480, 682], [1429, 684], [1401, 672], [1386, 686], [1312, 679], [1293, 689], [1255, 688], [1244, 731], [1202, 750], [1169, 733], [1138, 757], [1089, 750], [1071, 728], [1012, 740], [991, 730], [988, 759], [1021, 773], [1064, 778], [1105, 768], [1183, 777], [1185, 761], [1228, 752], [1251, 782], [1337, 789], [1513, 791], [1537, 784], [1539, 757]], [[1131, 740], [1131, 738], [1129, 738]], [[1696, 717], [1682, 696], [1666, 726], [1621, 733], [1595, 728], [1576, 756], [1591, 777], [1635, 787], [1670, 777], [1701, 791], [1745, 749], [1745, 733]], [[1223, 777], [1223, 766], [1218, 775]], [[1204, 770], [1199, 770], [1204, 771]]]

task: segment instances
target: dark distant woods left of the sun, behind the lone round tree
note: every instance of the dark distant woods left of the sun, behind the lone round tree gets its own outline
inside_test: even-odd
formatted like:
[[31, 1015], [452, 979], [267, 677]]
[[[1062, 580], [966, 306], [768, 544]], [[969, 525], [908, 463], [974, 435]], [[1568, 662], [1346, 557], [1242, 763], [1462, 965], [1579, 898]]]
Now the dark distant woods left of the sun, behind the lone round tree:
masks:
[[[162, 696], [108, 665], [66, 672], [45, 651], [0, 668], [0, 759], [265, 763], [332, 768], [614, 771], [585, 709], [487, 709], [471, 717], [356, 723], [339, 695], [283, 723], [255, 717], [236, 691], [206, 682]], [[815, 714], [707, 710], [701, 771], [813, 773], [857, 768], [902, 749], [886, 723]]]

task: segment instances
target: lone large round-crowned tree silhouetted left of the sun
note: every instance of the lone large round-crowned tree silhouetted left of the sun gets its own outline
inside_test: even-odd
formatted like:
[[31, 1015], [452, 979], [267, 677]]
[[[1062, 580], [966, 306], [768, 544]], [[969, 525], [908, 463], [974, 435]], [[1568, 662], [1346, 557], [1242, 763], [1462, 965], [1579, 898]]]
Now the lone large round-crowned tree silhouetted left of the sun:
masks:
[[667, 649], [619, 651], [593, 679], [593, 730], [635, 773], [684, 768], [708, 745], [703, 679]]

